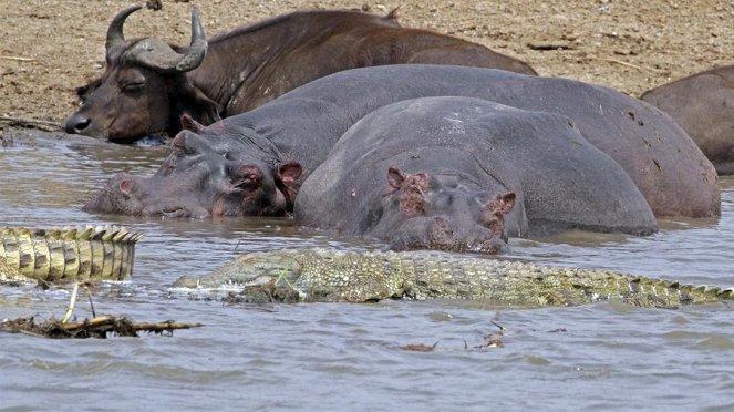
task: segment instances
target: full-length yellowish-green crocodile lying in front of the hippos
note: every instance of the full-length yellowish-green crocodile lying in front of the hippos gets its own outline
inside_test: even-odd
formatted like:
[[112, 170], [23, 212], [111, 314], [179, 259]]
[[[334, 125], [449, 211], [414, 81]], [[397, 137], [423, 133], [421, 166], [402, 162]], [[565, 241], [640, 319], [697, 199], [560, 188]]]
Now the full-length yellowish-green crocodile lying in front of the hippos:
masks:
[[244, 288], [236, 301], [472, 299], [496, 306], [577, 306], [601, 300], [678, 308], [734, 299], [734, 289], [682, 285], [612, 270], [540, 266], [452, 255], [275, 250], [237, 257], [214, 272], [183, 276], [175, 288]]

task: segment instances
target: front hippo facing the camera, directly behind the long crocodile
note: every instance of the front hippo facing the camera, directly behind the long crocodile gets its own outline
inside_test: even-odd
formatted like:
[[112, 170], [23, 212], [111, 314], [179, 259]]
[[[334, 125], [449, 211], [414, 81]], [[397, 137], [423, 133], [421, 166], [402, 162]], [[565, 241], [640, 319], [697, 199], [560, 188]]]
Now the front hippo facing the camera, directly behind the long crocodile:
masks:
[[508, 235], [657, 230], [634, 182], [567, 116], [451, 96], [362, 117], [306, 179], [293, 217], [397, 250], [496, 253]]

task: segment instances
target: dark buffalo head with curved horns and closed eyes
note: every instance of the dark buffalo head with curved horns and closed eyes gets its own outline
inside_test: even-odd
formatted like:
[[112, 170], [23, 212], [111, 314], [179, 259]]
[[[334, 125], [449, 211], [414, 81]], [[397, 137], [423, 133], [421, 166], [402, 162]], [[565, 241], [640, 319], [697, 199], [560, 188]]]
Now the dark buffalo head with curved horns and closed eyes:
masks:
[[125, 40], [125, 19], [141, 8], [125, 9], [110, 23], [105, 72], [77, 89], [82, 105], [66, 121], [66, 133], [130, 143], [152, 133], [175, 134], [182, 112], [216, 119], [217, 104], [186, 76], [207, 50], [197, 9], [192, 10], [190, 45], [174, 49], [158, 39]]

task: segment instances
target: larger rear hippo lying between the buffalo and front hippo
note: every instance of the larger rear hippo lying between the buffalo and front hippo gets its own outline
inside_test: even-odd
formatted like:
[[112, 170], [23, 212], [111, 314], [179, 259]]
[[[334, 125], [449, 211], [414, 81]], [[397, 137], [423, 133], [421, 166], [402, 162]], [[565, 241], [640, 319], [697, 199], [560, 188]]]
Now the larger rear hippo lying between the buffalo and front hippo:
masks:
[[299, 184], [355, 122], [390, 103], [444, 95], [566, 115], [627, 172], [655, 216], [721, 213], [713, 166], [652, 105], [569, 79], [424, 64], [343, 71], [208, 126], [185, 122], [187, 130], [173, 140], [158, 172], [149, 178], [113, 176], [84, 209], [201, 218], [285, 215]]

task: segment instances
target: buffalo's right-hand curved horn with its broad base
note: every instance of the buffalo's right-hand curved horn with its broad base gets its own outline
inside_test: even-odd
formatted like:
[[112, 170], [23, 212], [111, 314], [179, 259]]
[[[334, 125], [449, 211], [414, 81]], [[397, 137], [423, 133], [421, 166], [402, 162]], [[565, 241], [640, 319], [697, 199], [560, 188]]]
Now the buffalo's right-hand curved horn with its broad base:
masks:
[[145, 39], [131, 48], [126, 54], [131, 60], [164, 73], [184, 73], [201, 64], [206, 55], [207, 41], [197, 8], [192, 10], [192, 44], [186, 54], [174, 51], [158, 39]]

